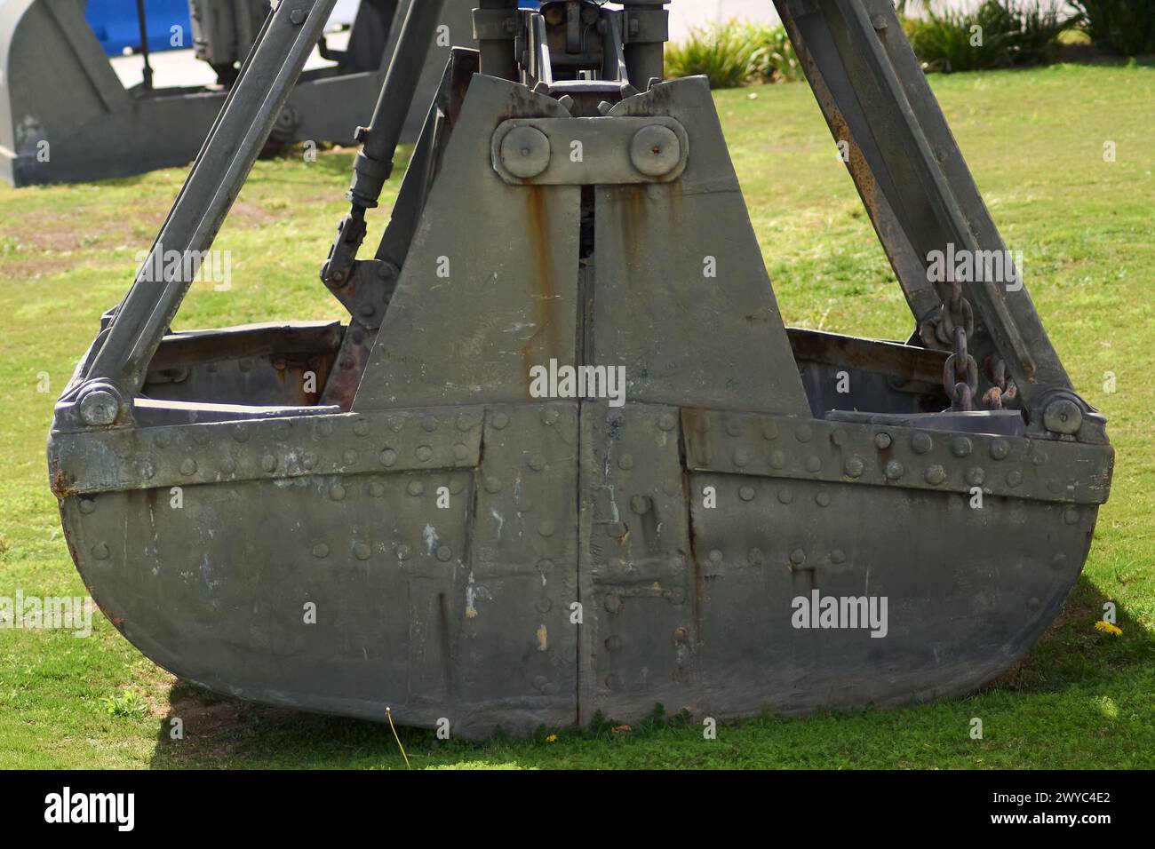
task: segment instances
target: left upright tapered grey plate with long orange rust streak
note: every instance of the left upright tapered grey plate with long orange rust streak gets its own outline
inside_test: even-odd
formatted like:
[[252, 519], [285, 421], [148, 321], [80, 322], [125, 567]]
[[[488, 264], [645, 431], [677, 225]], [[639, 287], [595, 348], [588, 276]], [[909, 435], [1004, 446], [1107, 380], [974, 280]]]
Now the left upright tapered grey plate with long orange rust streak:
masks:
[[565, 109], [474, 77], [355, 410], [524, 402], [534, 365], [573, 362], [581, 189], [493, 173], [493, 116], [509, 113]]

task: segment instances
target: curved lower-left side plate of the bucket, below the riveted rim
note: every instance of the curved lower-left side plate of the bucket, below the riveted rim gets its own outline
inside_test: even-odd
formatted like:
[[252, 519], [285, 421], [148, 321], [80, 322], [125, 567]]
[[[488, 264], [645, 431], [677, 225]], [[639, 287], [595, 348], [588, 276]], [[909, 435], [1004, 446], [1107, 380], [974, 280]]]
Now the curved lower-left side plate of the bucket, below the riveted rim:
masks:
[[179, 507], [169, 489], [70, 497], [62, 516], [94, 599], [165, 669], [432, 725], [462, 673], [471, 484], [469, 470], [316, 475], [186, 486]]

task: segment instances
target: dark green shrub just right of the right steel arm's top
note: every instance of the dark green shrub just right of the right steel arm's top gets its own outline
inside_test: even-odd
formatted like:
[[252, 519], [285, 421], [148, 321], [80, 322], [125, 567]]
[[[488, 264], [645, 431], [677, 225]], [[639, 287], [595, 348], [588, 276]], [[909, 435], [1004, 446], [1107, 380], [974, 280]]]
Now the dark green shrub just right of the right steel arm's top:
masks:
[[925, 17], [904, 17], [903, 27], [927, 70], [1045, 64], [1073, 22], [1041, 0], [983, 0], [961, 10], [927, 0], [925, 7]]

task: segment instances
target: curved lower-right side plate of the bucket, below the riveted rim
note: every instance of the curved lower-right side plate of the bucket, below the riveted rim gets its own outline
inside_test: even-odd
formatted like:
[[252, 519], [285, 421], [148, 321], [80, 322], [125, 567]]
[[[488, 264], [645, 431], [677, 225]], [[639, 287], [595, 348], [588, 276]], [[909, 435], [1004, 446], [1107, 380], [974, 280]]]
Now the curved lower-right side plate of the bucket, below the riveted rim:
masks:
[[[971, 509], [955, 493], [745, 474], [694, 474], [690, 486], [703, 574], [694, 713], [715, 717], [909, 703], [981, 686], [1057, 615], [1097, 515], [1003, 498]], [[824, 598], [860, 618], [821, 626]]]

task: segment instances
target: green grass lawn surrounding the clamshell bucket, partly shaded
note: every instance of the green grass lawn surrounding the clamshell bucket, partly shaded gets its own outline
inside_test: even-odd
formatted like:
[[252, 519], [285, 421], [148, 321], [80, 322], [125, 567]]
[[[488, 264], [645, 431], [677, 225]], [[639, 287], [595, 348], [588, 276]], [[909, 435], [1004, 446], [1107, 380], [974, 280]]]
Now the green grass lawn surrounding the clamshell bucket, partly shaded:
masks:
[[[401, 729], [413, 767], [1155, 767], [1155, 68], [1055, 66], [933, 84], [1004, 238], [1023, 252], [1075, 386], [1109, 416], [1118, 449], [1090, 561], [1056, 626], [968, 699], [766, 716], [720, 728], [716, 740], [665, 722], [484, 744]], [[788, 322], [906, 338], [911, 318], [808, 87], [717, 100]], [[1117, 162], [1104, 162], [1105, 142]], [[177, 327], [340, 318], [316, 271], [350, 166], [349, 152], [259, 163], [216, 245], [232, 252], [232, 289], [199, 284]], [[52, 405], [182, 178], [174, 169], [0, 187], [0, 596], [84, 591], [47, 487]], [[380, 216], [368, 241], [379, 233]], [[1094, 630], [1104, 598], [1118, 605], [1122, 636]], [[0, 630], [0, 767], [404, 768], [387, 725], [214, 699], [99, 615], [94, 624], [90, 639]], [[171, 716], [184, 720], [184, 740], [169, 739]], [[983, 739], [970, 738], [971, 717]]]

